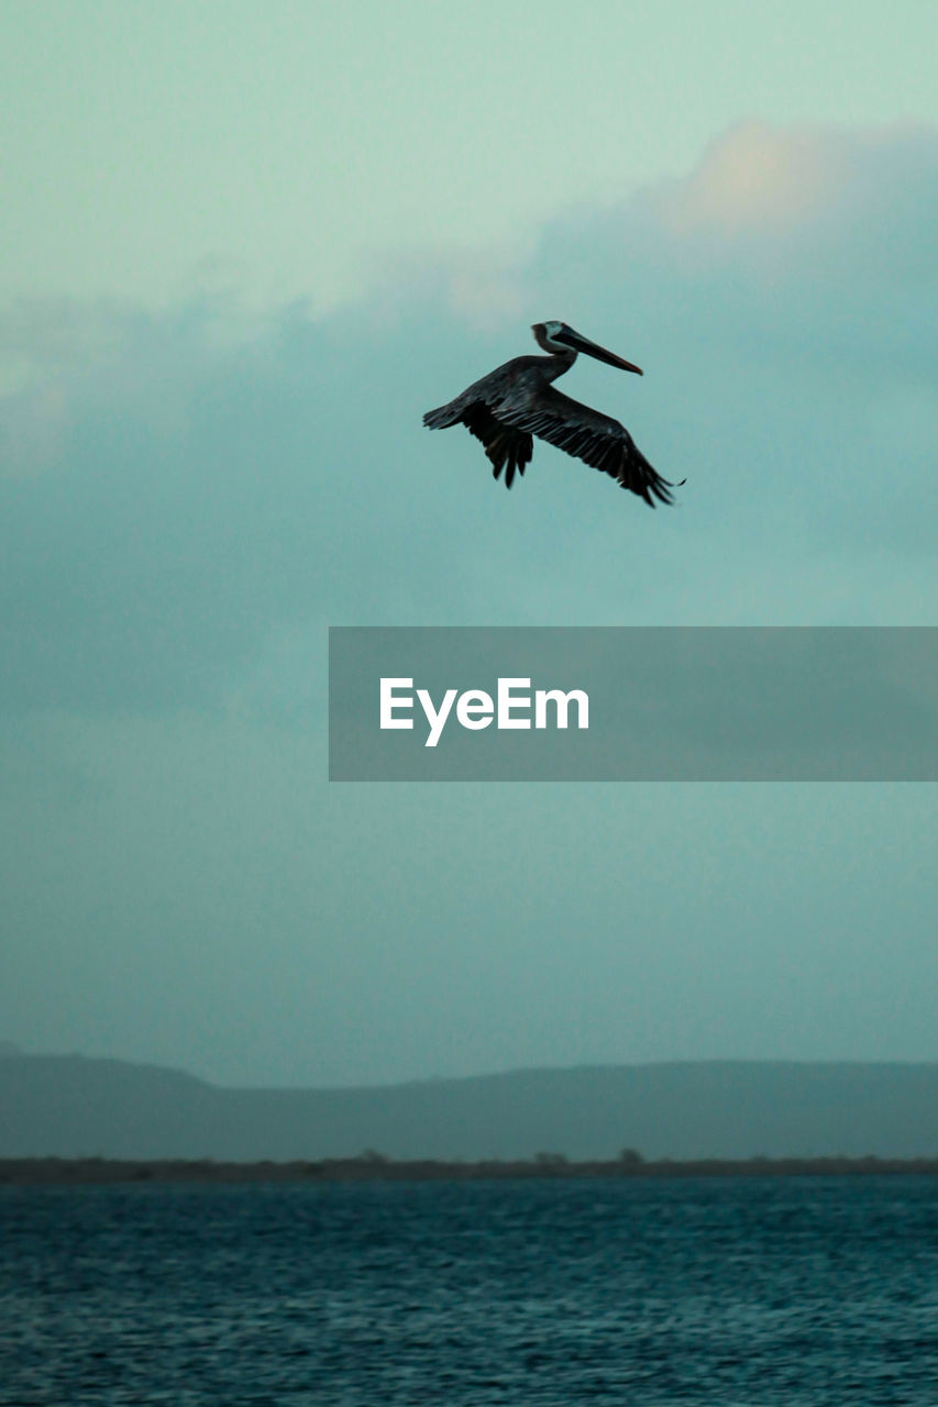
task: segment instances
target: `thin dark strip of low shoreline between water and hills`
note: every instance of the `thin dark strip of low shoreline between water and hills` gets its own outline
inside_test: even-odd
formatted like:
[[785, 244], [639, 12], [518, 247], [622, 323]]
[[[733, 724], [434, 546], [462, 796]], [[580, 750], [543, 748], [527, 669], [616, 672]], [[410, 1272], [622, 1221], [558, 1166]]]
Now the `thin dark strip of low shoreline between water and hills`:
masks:
[[0, 1186], [93, 1186], [101, 1183], [196, 1182], [480, 1182], [570, 1178], [845, 1178], [935, 1176], [938, 1158], [707, 1158], [700, 1161], [396, 1162], [380, 1155], [318, 1162], [215, 1162], [201, 1159], [3, 1158]]

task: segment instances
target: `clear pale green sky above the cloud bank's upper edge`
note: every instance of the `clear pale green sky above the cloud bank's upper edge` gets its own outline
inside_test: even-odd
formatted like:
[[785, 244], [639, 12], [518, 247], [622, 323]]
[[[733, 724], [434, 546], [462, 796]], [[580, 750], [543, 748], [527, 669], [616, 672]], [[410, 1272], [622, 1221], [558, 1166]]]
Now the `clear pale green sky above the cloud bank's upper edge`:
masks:
[[930, 0], [6, 0], [0, 293], [320, 305], [523, 250], [742, 118], [937, 121]]

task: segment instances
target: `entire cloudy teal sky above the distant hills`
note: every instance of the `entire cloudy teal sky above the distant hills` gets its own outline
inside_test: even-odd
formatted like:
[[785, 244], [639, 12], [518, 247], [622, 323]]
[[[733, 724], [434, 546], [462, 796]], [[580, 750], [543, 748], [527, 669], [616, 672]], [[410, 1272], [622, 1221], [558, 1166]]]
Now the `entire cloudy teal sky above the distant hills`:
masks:
[[[0, 7], [0, 1037], [232, 1085], [938, 1058], [934, 785], [325, 757], [330, 625], [938, 625], [937, 30]], [[645, 369], [563, 386], [673, 508], [421, 428], [545, 318]]]

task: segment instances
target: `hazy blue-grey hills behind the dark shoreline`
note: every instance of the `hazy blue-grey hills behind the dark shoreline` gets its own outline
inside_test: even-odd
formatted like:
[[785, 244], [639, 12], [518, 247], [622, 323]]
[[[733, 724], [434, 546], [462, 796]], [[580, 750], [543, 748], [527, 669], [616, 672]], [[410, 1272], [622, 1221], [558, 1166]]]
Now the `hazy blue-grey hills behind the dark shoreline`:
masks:
[[700, 1061], [362, 1089], [227, 1089], [0, 1043], [0, 1158], [938, 1155], [938, 1064]]

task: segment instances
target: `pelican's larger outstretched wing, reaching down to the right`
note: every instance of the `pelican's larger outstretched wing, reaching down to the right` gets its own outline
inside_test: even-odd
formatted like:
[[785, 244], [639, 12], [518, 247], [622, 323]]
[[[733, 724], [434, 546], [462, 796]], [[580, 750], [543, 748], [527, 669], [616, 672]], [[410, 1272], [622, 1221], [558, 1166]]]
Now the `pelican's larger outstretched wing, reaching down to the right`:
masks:
[[525, 395], [523, 388], [520, 394], [508, 393], [489, 414], [496, 424], [500, 421], [527, 436], [537, 435], [593, 469], [611, 474], [623, 488], [638, 494], [651, 508], [655, 507], [655, 499], [662, 504], [673, 502], [670, 490], [675, 484], [652, 469], [624, 425], [611, 415], [603, 415], [601, 411], [555, 391], [552, 386], [539, 390], [535, 398]]

